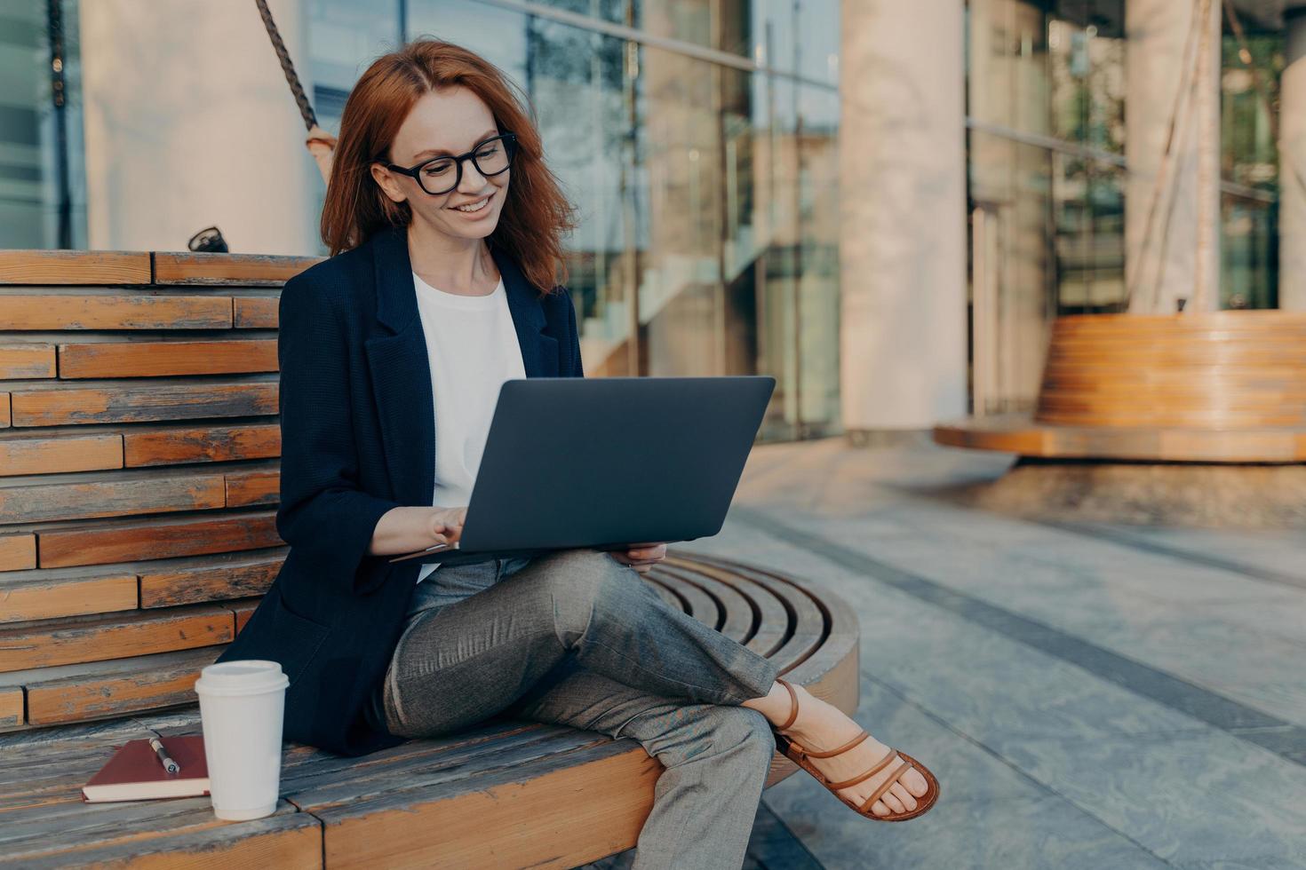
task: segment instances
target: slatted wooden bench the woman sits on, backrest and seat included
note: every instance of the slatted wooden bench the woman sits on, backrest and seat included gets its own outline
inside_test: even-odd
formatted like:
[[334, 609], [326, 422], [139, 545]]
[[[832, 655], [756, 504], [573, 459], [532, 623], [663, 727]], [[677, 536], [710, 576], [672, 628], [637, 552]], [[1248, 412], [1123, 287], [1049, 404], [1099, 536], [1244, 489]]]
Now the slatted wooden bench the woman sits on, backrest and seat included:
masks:
[[[362, 758], [287, 742], [252, 822], [80, 801], [116, 745], [200, 733], [200, 668], [285, 558], [277, 296], [312, 262], [0, 252], [0, 866], [569, 867], [635, 844], [657, 760], [508, 720]], [[833, 595], [674, 548], [644, 579], [857, 707]], [[777, 755], [769, 781], [794, 770]]]

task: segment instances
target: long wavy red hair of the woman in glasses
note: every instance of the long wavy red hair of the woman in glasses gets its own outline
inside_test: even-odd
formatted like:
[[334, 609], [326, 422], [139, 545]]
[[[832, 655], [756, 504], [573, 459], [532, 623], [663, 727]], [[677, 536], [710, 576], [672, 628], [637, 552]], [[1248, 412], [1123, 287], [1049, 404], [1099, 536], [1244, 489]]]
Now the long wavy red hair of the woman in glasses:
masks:
[[323, 203], [323, 243], [334, 256], [377, 230], [413, 220], [409, 205], [387, 197], [368, 166], [389, 154], [418, 99], [456, 85], [485, 100], [500, 133], [517, 134], [508, 198], [488, 243], [508, 252], [526, 279], [549, 293], [567, 282], [562, 237], [576, 226], [575, 207], [545, 164], [530, 98], [485, 57], [439, 39], [417, 39], [377, 57], [350, 91]]

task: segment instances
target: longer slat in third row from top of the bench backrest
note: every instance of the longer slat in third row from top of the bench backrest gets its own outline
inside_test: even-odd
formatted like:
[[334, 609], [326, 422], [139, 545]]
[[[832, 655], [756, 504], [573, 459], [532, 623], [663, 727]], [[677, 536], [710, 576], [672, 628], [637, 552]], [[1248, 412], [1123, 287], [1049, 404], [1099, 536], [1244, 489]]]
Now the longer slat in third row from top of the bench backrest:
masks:
[[59, 377], [161, 377], [276, 372], [277, 340], [86, 342], [59, 346]]

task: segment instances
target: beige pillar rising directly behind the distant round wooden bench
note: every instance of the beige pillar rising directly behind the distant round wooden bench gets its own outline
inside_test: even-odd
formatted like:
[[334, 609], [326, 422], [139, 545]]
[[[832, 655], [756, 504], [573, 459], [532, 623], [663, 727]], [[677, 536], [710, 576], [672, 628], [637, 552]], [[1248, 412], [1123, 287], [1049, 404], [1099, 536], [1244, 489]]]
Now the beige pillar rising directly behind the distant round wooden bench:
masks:
[[[1196, 22], [1185, 56], [1203, 5], [1205, 26]], [[1126, 0], [1124, 280], [1134, 312], [1174, 312], [1179, 297], [1218, 307], [1220, 14], [1218, 0]], [[1199, 65], [1202, 81], [1188, 91]], [[1195, 299], [1203, 282], [1208, 291]]]

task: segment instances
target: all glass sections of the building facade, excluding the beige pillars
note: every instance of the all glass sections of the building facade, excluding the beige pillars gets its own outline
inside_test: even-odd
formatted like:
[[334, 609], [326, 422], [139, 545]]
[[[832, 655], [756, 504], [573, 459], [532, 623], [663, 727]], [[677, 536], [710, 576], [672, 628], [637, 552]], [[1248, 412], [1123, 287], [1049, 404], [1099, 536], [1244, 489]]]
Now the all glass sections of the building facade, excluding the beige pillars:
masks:
[[[771, 374], [763, 438], [842, 430], [840, 347], [858, 337], [841, 337], [840, 198], [859, 194], [840, 177], [840, 111], [861, 85], [841, 76], [853, 34], [840, 0], [285, 1], [307, 46], [295, 63], [330, 132], [367, 64], [418, 37], [487, 56], [529, 95], [579, 207], [567, 265], [588, 373]], [[89, 247], [81, 3], [0, 0], [5, 248]], [[1140, 43], [1127, 16], [1187, 3], [951, 9], [965, 16], [976, 413], [1032, 406], [1055, 317], [1124, 309], [1126, 206], [1139, 175], [1130, 129], [1169, 112], [1128, 99]], [[1290, 48], [1290, 10], [1277, 4], [1235, 0], [1226, 12], [1220, 304], [1272, 308], [1280, 90], [1285, 59], [1306, 48]], [[1301, 21], [1293, 33], [1306, 46]]]

